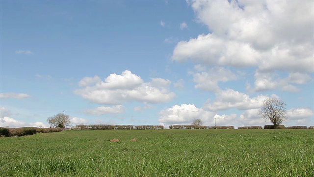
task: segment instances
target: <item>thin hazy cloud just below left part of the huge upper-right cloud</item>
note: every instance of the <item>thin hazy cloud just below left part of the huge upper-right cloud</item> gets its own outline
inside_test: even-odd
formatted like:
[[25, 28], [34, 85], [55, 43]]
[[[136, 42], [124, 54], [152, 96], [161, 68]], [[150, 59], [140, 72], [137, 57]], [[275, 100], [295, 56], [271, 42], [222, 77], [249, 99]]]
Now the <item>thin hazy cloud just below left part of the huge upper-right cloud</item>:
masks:
[[[205, 68], [196, 65], [197, 70], [205, 70]], [[229, 69], [223, 67], [213, 67], [202, 72], [190, 72], [193, 75], [195, 88], [217, 92], [219, 91], [218, 82], [227, 82], [235, 80], [237, 76]]]

